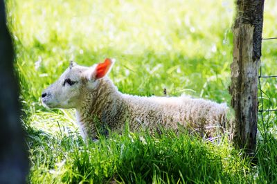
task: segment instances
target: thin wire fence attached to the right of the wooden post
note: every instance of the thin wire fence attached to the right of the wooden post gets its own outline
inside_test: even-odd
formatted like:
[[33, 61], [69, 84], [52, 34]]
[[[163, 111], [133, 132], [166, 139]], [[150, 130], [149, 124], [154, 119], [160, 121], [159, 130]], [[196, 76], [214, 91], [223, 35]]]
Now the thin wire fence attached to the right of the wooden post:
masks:
[[[270, 40], [270, 39], [277, 39], [277, 37], [269, 37], [269, 38], [262, 38], [262, 40]], [[262, 73], [262, 64], [260, 64], [260, 74], [258, 77], [258, 89], [260, 90], [260, 102], [261, 105], [258, 109], [258, 112], [260, 113], [260, 116], [262, 118], [262, 126], [263, 129], [265, 131], [265, 138], [267, 137], [267, 133], [269, 131], [269, 113], [272, 111], [277, 111], [277, 109], [271, 109], [271, 98], [269, 95], [267, 95], [267, 93], [265, 93], [265, 91], [262, 90], [262, 85], [260, 80], [262, 78], [276, 78], [277, 79], [277, 75], [263, 75]], [[268, 109], [265, 109], [265, 104], [264, 104], [264, 97], [267, 97], [269, 99], [269, 107]], [[265, 117], [264, 117], [264, 113], [267, 113], [267, 121], [265, 121]]]

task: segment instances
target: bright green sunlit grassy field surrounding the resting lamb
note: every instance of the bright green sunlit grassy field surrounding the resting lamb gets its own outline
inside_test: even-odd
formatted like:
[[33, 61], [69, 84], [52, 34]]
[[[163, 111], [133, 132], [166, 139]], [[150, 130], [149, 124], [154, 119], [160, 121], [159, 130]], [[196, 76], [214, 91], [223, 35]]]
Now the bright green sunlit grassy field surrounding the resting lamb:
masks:
[[[230, 102], [233, 1], [6, 0], [15, 42], [30, 183], [276, 183], [276, 113], [264, 113], [255, 161], [226, 138], [111, 134], [84, 142], [74, 111], [42, 107], [40, 95], [73, 59], [116, 58], [118, 89], [136, 95], [186, 93]], [[265, 2], [263, 37], [277, 36], [277, 2]], [[277, 41], [262, 45], [262, 72], [277, 74]], [[261, 81], [276, 109], [277, 80]], [[260, 107], [261, 107], [260, 103]]]

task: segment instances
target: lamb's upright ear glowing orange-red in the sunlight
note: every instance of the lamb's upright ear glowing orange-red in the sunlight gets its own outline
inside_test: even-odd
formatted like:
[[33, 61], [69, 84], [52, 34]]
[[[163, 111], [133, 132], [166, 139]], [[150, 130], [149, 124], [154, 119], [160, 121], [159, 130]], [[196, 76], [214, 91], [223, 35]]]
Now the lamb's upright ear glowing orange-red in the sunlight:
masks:
[[86, 77], [87, 80], [98, 80], [102, 77], [105, 77], [107, 73], [111, 70], [111, 67], [114, 65], [115, 59], [105, 59], [104, 62], [99, 63], [96, 65], [96, 67], [90, 68], [88, 71], [86, 71], [84, 77]]

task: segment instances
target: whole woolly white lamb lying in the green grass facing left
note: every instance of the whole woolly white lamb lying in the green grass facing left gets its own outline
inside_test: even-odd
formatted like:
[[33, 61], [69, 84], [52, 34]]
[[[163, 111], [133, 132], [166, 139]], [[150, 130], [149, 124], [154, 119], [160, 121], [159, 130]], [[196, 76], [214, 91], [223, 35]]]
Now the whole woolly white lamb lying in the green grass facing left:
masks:
[[57, 82], [42, 93], [42, 103], [49, 108], [75, 108], [84, 139], [98, 137], [99, 123], [120, 132], [128, 122], [130, 131], [145, 129], [150, 134], [161, 127], [178, 131], [181, 126], [208, 137], [226, 128], [226, 104], [186, 95], [140, 97], [120, 93], [107, 77], [113, 65], [113, 59], [91, 67], [71, 62]]

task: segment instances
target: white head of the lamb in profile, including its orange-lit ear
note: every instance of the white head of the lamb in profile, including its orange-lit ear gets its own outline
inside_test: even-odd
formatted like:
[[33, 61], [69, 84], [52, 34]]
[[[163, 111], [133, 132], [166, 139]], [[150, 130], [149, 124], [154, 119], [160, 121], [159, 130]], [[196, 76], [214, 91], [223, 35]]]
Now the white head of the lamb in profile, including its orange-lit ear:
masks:
[[113, 59], [94, 64], [91, 67], [79, 66], [71, 62], [60, 78], [42, 93], [42, 103], [50, 108], [78, 108], [82, 95], [88, 89], [98, 89], [99, 80], [109, 73]]

